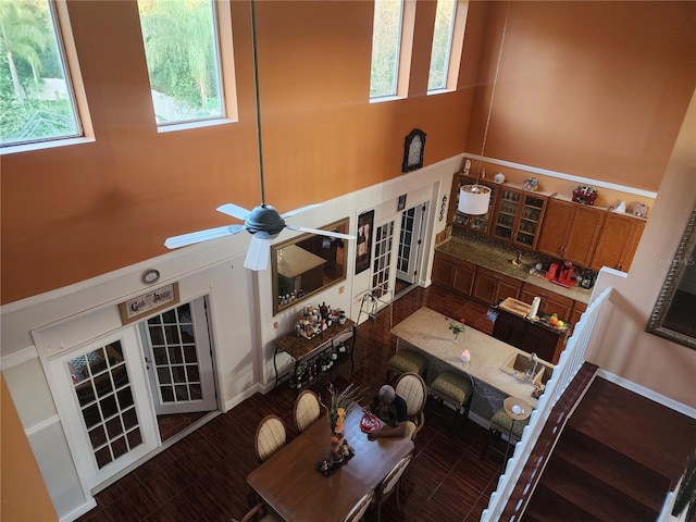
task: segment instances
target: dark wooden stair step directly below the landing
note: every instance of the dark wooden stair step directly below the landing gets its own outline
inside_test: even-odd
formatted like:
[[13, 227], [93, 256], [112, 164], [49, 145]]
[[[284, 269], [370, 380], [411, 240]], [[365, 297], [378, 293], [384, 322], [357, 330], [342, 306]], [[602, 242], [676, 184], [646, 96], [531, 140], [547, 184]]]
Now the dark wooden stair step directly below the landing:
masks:
[[562, 459], [575, 470], [584, 470], [618, 494], [645, 506], [655, 517], [670, 490], [668, 476], [569, 426], [552, 458]]

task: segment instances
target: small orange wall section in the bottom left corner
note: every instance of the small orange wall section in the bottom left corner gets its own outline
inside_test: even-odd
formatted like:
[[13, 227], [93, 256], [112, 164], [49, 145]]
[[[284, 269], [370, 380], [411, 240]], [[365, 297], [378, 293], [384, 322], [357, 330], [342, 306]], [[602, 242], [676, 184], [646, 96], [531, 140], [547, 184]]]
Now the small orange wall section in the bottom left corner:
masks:
[[0, 512], [4, 522], [58, 520], [20, 417], [0, 373]]

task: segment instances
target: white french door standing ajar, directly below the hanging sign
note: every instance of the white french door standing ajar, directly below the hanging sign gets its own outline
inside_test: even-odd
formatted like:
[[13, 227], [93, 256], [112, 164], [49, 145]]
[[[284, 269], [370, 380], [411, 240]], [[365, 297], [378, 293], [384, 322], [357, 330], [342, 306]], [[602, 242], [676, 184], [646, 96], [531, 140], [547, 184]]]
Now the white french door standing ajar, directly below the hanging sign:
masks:
[[156, 413], [215, 410], [206, 299], [179, 304], [139, 327]]

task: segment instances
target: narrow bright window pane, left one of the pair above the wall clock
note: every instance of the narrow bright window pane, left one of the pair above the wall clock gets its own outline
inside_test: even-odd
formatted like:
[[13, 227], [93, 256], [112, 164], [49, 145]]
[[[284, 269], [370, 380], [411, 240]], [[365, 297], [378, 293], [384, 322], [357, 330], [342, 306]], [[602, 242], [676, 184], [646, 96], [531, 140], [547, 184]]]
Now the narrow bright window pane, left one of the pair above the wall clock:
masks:
[[402, 14], [402, 0], [374, 2], [370, 98], [396, 96]]

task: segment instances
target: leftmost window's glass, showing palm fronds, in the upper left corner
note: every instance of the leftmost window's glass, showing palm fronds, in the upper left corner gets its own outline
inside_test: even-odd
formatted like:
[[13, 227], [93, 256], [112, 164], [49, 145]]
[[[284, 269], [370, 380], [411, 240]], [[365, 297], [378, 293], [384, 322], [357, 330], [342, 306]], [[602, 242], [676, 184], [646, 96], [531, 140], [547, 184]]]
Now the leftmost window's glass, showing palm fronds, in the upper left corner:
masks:
[[82, 134], [53, 4], [0, 1], [0, 146]]

